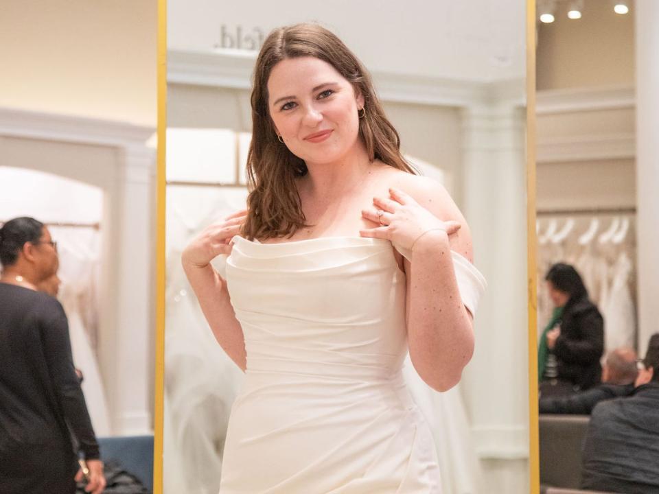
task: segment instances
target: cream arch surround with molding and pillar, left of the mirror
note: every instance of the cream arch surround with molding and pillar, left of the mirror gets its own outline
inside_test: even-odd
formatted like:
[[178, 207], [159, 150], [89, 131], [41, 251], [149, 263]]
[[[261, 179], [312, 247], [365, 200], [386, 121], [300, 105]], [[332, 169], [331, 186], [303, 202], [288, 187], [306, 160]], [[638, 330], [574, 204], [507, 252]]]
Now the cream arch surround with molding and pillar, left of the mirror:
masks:
[[[73, 178], [103, 191], [98, 349], [116, 435], [148, 434], [153, 427], [155, 163], [153, 150], [144, 144], [152, 132], [0, 108], [1, 163]], [[81, 213], [78, 221], [85, 217]]]

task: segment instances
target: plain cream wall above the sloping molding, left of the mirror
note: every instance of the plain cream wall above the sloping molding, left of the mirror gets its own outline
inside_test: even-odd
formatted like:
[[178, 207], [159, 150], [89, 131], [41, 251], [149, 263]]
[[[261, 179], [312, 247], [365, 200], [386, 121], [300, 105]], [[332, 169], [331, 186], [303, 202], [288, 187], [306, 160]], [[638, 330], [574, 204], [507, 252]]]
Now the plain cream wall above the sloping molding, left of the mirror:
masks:
[[0, 106], [156, 123], [157, 1], [0, 2]]

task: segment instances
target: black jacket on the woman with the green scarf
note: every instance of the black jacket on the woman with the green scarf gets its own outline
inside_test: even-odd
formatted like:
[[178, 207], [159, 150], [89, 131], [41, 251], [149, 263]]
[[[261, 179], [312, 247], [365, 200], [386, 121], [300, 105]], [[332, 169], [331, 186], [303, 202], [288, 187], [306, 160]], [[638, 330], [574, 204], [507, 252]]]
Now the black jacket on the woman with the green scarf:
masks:
[[560, 322], [561, 336], [556, 339], [554, 355], [558, 379], [581, 390], [599, 384], [604, 352], [604, 320], [597, 306], [583, 296], [569, 301]]

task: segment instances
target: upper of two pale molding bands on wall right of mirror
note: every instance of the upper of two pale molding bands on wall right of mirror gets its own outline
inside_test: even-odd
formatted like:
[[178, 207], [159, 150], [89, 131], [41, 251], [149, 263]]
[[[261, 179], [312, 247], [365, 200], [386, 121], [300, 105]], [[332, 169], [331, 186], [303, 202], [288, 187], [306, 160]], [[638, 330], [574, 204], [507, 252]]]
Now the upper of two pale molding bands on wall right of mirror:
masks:
[[535, 114], [573, 113], [581, 111], [634, 108], [636, 91], [633, 86], [609, 86], [537, 91]]

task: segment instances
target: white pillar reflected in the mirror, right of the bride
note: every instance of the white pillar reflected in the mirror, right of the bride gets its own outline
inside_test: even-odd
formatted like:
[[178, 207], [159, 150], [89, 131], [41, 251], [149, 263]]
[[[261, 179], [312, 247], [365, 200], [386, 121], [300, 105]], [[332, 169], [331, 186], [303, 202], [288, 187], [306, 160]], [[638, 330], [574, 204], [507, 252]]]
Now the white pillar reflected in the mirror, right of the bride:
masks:
[[[474, 261], [487, 279], [475, 320], [476, 351], [463, 393], [474, 440], [487, 462], [524, 472], [528, 447], [527, 236], [524, 110], [463, 110], [463, 213]], [[527, 489], [522, 474], [519, 489]], [[496, 489], [492, 490], [493, 492]]]

